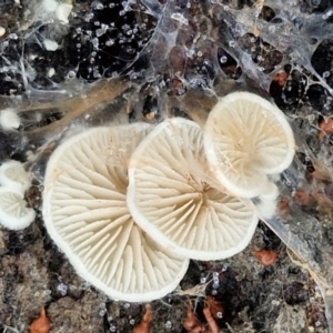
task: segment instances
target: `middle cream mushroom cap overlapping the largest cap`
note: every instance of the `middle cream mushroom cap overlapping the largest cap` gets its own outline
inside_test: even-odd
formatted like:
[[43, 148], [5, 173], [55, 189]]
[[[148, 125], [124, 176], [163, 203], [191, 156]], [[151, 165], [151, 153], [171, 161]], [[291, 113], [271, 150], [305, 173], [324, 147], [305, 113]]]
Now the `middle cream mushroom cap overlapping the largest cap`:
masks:
[[203, 131], [167, 120], [141, 141], [129, 164], [128, 206], [157, 242], [196, 260], [242, 251], [258, 224], [254, 208], [205, 179]]

